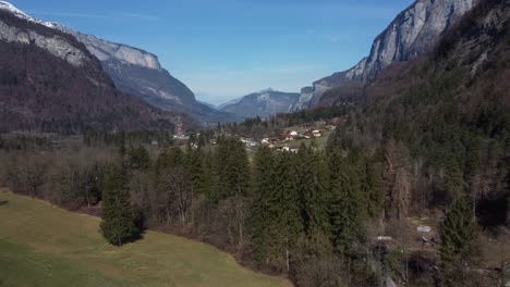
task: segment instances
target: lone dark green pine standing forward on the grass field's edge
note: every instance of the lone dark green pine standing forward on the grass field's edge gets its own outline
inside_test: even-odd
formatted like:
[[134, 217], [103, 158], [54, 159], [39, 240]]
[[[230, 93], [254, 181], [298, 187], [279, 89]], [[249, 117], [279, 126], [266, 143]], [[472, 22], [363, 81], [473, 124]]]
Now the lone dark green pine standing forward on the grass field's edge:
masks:
[[139, 236], [130, 202], [125, 167], [114, 170], [106, 176], [101, 219], [101, 234], [111, 245], [121, 246]]

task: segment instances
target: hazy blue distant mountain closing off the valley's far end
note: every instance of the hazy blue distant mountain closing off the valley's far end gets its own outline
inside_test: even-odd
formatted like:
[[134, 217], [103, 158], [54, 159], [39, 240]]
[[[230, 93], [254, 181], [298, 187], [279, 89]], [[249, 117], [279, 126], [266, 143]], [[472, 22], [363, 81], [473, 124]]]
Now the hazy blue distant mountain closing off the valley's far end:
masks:
[[299, 99], [298, 92], [283, 92], [271, 88], [246, 95], [219, 107], [221, 111], [240, 116], [267, 118], [272, 114], [287, 112]]

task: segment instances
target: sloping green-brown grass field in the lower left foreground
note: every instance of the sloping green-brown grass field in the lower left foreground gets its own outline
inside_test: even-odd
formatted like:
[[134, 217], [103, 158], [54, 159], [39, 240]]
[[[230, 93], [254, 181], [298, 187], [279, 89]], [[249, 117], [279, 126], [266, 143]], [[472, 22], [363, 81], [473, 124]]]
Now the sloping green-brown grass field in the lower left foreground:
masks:
[[99, 220], [0, 191], [0, 286], [291, 286], [205, 244], [148, 232], [107, 245]]

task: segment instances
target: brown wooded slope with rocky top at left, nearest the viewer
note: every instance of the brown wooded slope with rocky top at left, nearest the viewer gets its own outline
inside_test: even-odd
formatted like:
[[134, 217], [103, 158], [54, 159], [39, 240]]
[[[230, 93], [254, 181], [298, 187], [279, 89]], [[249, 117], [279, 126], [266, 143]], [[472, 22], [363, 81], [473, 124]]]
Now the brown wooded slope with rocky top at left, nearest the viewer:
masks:
[[0, 132], [172, 128], [174, 114], [120, 92], [74, 37], [0, 11]]

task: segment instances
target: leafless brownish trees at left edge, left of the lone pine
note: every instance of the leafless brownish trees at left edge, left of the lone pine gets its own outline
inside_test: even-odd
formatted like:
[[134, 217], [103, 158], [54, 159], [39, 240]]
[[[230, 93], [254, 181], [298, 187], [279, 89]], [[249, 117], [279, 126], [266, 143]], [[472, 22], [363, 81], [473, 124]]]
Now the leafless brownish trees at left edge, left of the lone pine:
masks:
[[69, 210], [92, 207], [101, 200], [116, 158], [99, 149], [0, 151], [0, 185]]

